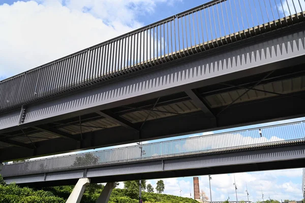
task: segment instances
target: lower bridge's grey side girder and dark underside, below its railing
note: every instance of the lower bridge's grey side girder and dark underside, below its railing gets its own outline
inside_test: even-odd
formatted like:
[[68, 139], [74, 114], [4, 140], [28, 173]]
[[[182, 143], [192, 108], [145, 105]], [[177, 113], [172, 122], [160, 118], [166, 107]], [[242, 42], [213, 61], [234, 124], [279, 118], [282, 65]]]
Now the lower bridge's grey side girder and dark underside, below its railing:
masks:
[[300, 168], [304, 166], [305, 150], [304, 145], [300, 144], [273, 149], [236, 150], [230, 153], [208, 156], [47, 172], [18, 177], [5, 177], [4, 179], [8, 184], [15, 182], [21, 186], [47, 187], [74, 185], [80, 178], [90, 178], [91, 183], [106, 183], [110, 181], [120, 182]]

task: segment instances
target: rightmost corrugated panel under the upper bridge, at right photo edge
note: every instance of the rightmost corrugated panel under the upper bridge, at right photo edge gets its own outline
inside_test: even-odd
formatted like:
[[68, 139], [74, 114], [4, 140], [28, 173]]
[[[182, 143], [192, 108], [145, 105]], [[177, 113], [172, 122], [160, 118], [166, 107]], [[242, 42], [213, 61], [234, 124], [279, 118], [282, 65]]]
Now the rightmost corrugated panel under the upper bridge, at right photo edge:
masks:
[[[289, 94], [293, 92], [304, 91], [305, 76], [257, 85], [255, 89], [280, 94]], [[245, 92], [246, 89], [240, 89], [226, 93], [209, 95], [206, 96], [205, 99], [208, 101], [212, 108], [215, 108], [229, 105], [232, 101], [236, 100], [240, 95], [244, 94]], [[277, 95], [256, 90], [250, 90], [245, 95], [242, 95], [235, 103], [247, 102], [273, 96]]]

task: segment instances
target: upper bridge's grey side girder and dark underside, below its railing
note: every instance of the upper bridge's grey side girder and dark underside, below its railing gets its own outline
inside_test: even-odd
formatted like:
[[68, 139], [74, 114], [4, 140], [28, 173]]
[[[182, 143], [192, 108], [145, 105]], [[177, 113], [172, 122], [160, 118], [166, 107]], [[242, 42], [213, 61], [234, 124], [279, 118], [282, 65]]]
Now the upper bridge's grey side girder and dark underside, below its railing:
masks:
[[299, 27], [4, 113], [0, 161], [302, 117]]

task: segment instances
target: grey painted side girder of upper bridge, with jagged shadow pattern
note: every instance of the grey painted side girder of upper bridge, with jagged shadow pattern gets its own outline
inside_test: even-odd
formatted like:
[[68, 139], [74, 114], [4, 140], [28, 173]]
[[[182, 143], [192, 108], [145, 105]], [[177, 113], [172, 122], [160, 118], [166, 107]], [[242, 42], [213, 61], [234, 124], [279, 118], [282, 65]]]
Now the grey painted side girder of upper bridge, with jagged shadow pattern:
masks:
[[[156, 97], [157, 93], [158, 96], [164, 96], [169, 92], [185, 91], [195, 84], [198, 85], [197, 83], [207, 85], [229, 78], [238, 78], [240, 74], [244, 76], [280, 69], [287, 66], [285, 61], [305, 54], [304, 39], [305, 31], [286, 33], [63, 98], [33, 106], [28, 105], [26, 118], [20, 126], [26, 127], [35, 122], [43, 122], [46, 119], [59, 118], [71, 113], [77, 114], [80, 111], [93, 112], [96, 109], [107, 109], [117, 106], [118, 102], [124, 105], [132, 101], [142, 101]], [[289, 61], [289, 65], [293, 63], [300, 62]], [[249, 72], [246, 74], [244, 71]], [[0, 115], [0, 121], [12, 120], [15, 116], [16, 114], [12, 112], [4, 113]], [[7, 125], [0, 126], [0, 130], [7, 127]]]

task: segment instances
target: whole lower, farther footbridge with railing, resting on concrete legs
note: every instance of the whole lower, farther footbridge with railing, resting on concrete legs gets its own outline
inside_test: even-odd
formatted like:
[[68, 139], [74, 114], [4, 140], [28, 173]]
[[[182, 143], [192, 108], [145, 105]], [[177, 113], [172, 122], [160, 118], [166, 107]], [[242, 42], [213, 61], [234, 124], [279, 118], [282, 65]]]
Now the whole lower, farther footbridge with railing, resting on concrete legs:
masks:
[[145, 143], [4, 165], [7, 183], [48, 186], [305, 166], [305, 123]]

